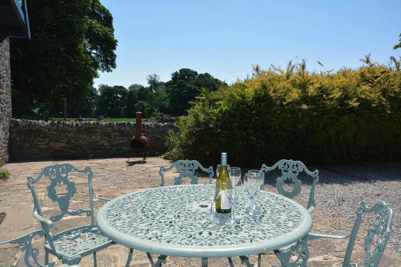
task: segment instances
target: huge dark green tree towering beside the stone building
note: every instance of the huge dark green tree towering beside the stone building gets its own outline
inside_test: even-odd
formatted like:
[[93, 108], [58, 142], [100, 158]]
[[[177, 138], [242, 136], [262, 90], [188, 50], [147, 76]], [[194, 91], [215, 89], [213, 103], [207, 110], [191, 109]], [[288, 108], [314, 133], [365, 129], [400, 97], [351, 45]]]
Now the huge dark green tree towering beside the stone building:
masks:
[[14, 115], [40, 115], [64, 97], [82, 110], [98, 71], [116, 66], [111, 13], [99, 0], [27, 4], [32, 40], [10, 40]]

